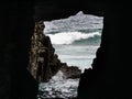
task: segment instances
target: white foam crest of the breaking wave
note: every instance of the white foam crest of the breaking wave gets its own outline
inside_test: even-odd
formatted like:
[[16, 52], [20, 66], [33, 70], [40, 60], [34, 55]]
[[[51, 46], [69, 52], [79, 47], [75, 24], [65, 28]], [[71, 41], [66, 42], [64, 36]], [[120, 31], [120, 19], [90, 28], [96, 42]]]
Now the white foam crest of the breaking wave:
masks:
[[53, 44], [73, 44], [75, 41], [86, 40], [101, 35], [99, 32], [81, 33], [81, 32], [62, 32], [56, 34], [46, 34], [51, 37]]

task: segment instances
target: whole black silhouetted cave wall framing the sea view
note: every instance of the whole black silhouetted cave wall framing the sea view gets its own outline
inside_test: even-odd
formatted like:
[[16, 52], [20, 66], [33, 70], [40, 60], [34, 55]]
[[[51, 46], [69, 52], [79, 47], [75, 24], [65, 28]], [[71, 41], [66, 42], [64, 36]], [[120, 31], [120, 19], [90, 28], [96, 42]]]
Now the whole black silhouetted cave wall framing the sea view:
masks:
[[131, 99], [131, 61], [125, 58], [129, 55], [127, 44], [131, 44], [128, 7], [127, 1], [110, 0], [3, 1], [0, 9], [0, 98], [36, 99], [38, 84], [26, 69], [34, 22], [67, 18], [81, 10], [105, 19], [101, 45], [92, 69], [86, 69], [80, 76], [77, 99]]

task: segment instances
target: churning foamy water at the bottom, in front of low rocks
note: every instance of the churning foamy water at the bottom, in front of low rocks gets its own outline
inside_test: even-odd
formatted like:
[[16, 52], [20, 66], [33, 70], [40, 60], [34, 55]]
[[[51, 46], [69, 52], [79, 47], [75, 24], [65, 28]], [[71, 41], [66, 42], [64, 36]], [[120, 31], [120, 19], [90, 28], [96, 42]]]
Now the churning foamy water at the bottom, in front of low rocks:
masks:
[[66, 79], [59, 70], [50, 82], [40, 84], [40, 90], [44, 91], [43, 98], [65, 98], [77, 96], [79, 79]]

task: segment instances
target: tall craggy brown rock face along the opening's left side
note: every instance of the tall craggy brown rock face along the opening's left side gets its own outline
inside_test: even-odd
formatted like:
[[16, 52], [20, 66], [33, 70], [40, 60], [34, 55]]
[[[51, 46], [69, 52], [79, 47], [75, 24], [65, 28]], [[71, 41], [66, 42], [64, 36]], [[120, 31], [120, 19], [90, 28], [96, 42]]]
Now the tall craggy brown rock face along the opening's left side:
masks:
[[43, 33], [43, 21], [35, 22], [32, 36], [29, 70], [38, 82], [48, 81], [63, 65], [48, 36]]

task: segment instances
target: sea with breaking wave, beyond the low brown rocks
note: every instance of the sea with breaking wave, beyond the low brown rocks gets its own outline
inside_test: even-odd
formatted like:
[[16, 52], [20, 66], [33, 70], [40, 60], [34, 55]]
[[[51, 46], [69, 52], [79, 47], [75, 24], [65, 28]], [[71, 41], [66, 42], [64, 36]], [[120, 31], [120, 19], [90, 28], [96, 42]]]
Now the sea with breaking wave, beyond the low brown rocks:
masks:
[[101, 42], [102, 16], [79, 11], [66, 19], [45, 21], [44, 34], [50, 36], [55, 53], [68, 66], [82, 72], [90, 68]]

